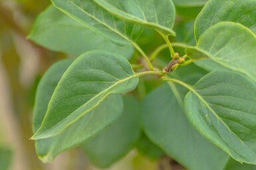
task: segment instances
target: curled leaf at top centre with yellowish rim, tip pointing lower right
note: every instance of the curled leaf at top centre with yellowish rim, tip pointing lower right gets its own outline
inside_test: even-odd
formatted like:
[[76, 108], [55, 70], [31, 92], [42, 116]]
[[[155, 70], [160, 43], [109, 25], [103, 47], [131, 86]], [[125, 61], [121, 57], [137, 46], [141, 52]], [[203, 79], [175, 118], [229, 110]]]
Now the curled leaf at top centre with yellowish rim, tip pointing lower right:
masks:
[[126, 21], [142, 24], [166, 34], [176, 35], [172, 30], [175, 21], [175, 7], [172, 0], [162, 1], [120, 1], [94, 0], [98, 5]]

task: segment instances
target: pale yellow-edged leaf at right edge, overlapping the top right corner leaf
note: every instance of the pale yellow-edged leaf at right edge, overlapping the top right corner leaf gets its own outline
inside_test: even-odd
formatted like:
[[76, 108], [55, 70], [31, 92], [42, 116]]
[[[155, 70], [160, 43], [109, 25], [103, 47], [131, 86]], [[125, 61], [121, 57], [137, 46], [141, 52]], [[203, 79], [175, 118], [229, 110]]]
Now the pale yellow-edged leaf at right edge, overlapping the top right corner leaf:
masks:
[[241, 24], [221, 22], [205, 31], [199, 38], [197, 47], [192, 50], [190, 48], [187, 52], [193, 59], [204, 54], [215, 64], [219, 64], [219, 67], [213, 67], [211, 64], [205, 64], [203, 60], [195, 62], [205, 69], [216, 70], [221, 65], [239, 71], [256, 81], [255, 47], [256, 36], [251, 30]]

